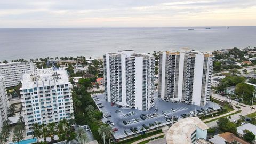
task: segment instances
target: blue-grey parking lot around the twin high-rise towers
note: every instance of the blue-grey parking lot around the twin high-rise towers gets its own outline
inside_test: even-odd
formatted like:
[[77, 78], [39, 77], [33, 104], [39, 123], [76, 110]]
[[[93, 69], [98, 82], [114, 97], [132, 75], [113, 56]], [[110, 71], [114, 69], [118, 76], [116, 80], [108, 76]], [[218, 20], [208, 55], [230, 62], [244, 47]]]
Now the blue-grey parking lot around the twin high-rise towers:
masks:
[[[209, 103], [207, 103], [207, 105], [205, 107], [201, 107], [201, 106], [195, 106], [195, 105], [187, 105], [185, 103], [172, 103], [171, 101], [166, 102], [163, 101], [161, 98], [158, 98], [157, 95], [155, 96], [155, 106], [153, 108], [151, 108], [148, 111], [141, 111], [141, 110], [137, 110], [137, 109], [131, 109], [131, 108], [127, 108], [127, 107], [115, 107], [115, 105], [111, 106], [110, 102], [106, 102], [105, 98], [104, 98], [104, 94], [100, 94], [97, 95], [97, 97], [94, 96], [93, 99], [99, 98], [99, 100], [95, 101], [95, 103], [102, 103], [101, 105], [97, 105], [99, 106], [104, 106], [103, 108], [99, 108], [100, 111], [102, 111], [103, 115], [106, 114], [110, 114], [111, 117], [104, 117], [102, 119], [103, 122], [107, 122], [108, 120], [113, 122], [114, 125], [112, 126], [113, 129], [117, 128], [118, 131], [113, 132], [113, 136], [115, 137], [115, 139], [121, 139], [124, 137], [127, 137], [129, 135], [135, 134], [135, 133], [139, 133], [139, 132], [143, 132], [146, 131], [146, 129], [140, 131], [141, 127], [143, 127], [142, 125], [145, 124], [146, 127], [148, 127], [150, 129], [155, 129], [156, 127], [159, 126], [163, 126], [166, 124], [171, 124], [173, 121], [167, 122], [166, 118], [172, 118], [177, 117], [178, 120], [181, 119], [181, 115], [182, 114], [190, 114], [190, 111], [195, 111], [198, 113], [197, 110], [201, 110], [201, 108], [207, 110], [208, 107], [213, 108], [214, 110], [220, 109], [220, 106], [209, 101]], [[158, 111], [155, 111], [155, 109], [158, 109]], [[172, 108], [175, 110], [172, 111]], [[119, 112], [116, 113], [116, 110], [119, 110]], [[210, 110], [210, 109], [209, 109]], [[134, 112], [135, 114], [130, 115], [130, 116], [124, 116], [129, 114], [129, 112]], [[167, 115], [169, 115], [169, 117], [164, 117], [164, 114], [162, 113], [162, 111], [165, 111], [165, 113]], [[148, 119], [142, 120], [141, 119], [141, 114], [154, 114], [156, 113], [158, 116], [149, 116]], [[201, 112], [200, 114], [203, 114], [203, 112]], [[132, 119], [138, 119], [137, 122], [133, 122]], [[124, 124], [123, 121], [130, 121], [131, 124]], [[157, 123], [155, 123], [155, 121]], [[154, 126], [149, 126], [149, 124], [154, 124]], [[138, 131], [137, 132], [132, 132], [130, 130], [130, 128], [133, 127], [137, 127]], [[126, 131], [126, 134], [125, 132]]]

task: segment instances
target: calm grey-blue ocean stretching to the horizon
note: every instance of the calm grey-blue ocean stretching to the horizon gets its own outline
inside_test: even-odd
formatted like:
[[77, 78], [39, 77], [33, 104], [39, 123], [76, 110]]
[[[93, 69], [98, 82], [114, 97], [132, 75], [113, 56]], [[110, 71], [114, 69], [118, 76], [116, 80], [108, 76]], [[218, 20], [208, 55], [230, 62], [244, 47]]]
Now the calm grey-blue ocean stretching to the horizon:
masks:
[[[102, 57], [132, 49], [138, 53], [189, 47], [214, 51], [256, 47], [256, 26], [0, 29], [0, 61], [45, 57]], [[194, 30], [188, 30], [194, 29]]]

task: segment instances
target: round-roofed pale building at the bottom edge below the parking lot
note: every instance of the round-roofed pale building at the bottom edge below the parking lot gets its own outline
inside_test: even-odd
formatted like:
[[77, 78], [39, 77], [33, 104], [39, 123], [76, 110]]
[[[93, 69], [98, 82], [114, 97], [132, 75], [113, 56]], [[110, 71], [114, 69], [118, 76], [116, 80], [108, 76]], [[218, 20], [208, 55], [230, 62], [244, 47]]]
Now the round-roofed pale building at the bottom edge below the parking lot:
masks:
[[199, 138], [206, 139], [208, 128], [198, 117], [181, 119], [168, 130], [166, 134], [167, 144], [195, 143]]

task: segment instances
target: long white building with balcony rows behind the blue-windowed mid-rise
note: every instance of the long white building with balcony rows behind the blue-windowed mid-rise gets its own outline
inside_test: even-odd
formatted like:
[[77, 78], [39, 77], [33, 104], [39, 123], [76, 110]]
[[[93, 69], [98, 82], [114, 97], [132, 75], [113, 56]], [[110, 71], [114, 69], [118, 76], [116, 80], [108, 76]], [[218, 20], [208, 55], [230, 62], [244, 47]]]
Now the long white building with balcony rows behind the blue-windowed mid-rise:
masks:
[[24, 73], [35, 70], [36, 65], [34, 65], [33, 62], [0, 63], [0, 74], [4, 76], [4, 84], [6, 87], [18, 85]]

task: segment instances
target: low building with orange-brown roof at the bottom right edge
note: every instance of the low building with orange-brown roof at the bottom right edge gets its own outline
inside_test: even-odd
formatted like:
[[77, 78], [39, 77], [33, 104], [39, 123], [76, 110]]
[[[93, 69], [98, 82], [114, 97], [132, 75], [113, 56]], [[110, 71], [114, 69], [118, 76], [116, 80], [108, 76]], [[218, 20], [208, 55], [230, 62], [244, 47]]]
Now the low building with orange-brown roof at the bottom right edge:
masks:
[[214, 144], [249, 144], [249, 142], [246, 142], [245, 140], [237, 137], [235, 134], [230, 132], [215, 135], [213, 138], [209, 139], [209, 141], [211, 141]]

